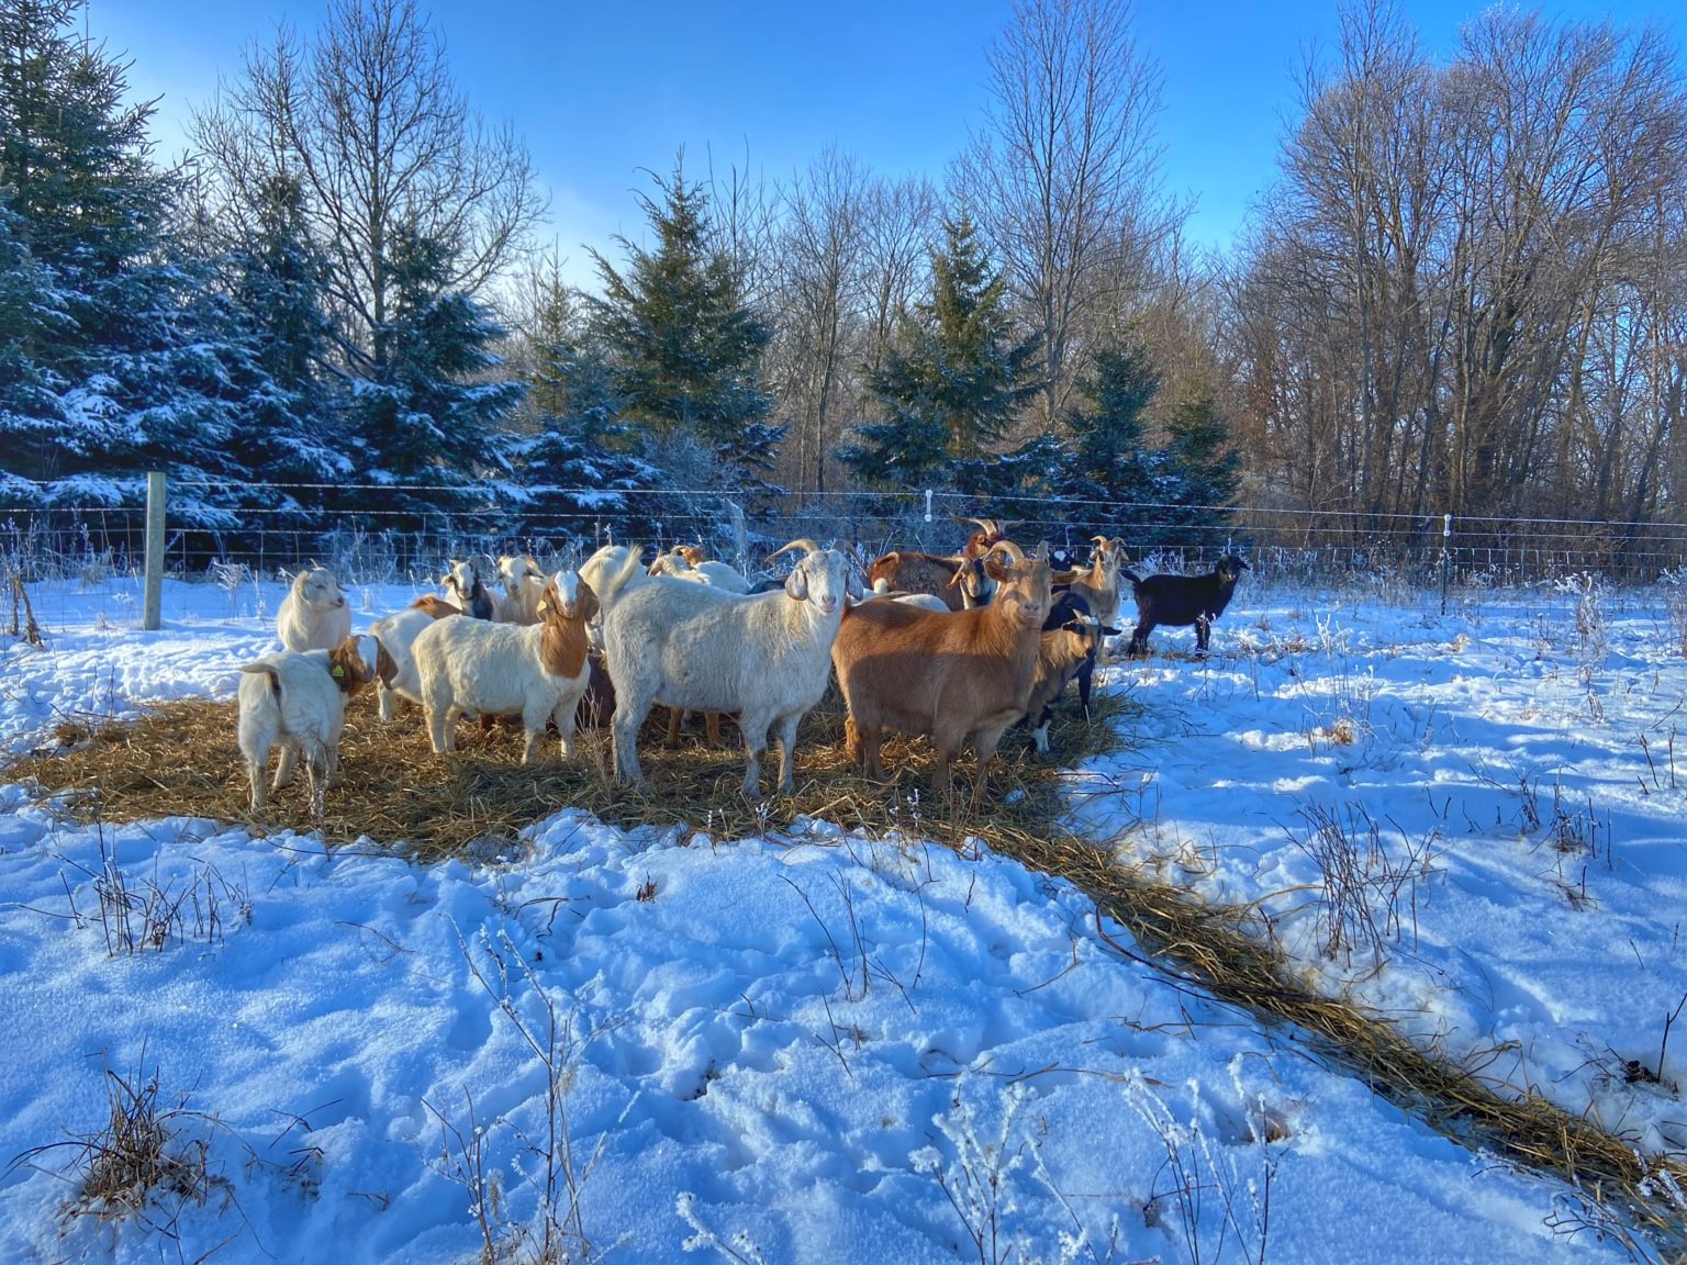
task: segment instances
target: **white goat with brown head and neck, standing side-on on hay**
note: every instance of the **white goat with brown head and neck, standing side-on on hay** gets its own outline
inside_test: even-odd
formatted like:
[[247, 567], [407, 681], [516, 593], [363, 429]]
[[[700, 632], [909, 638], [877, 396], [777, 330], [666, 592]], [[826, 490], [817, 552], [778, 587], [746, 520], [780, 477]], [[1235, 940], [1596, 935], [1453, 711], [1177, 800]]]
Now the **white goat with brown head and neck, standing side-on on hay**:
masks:
[[597, 614], [597, 594], [574, 572], [557, 572], [545, 585], [540, 622], [491, 624], [440, 619], [417, 634], [415, 654], [428, 739], [435, 754], [455, 751], [457, 719], [521, 715], [531, 764], [555, 720], [562, 754], [574, 756], [574, 719], [590, 683], [585, 624]]

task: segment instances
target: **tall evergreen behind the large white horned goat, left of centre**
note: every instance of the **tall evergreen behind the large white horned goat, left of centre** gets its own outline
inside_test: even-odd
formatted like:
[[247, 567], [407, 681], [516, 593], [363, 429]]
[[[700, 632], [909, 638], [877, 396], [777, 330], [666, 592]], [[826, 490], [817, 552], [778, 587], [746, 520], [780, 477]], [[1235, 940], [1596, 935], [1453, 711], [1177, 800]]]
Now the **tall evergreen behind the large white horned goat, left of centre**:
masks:
[[702, 186], [675, 165], [656, 187], [660, 204], [639, 196], [656, 248], [616, 238], [624, 272], [592, 251], [604, 282], [592, 305], [616, 393], [656, 447], [695, 439], [717, 460], [768, 469], [784, 433], [768, 423], [773, 396], [756, 376], [771, 331], [744, 302], [732, 253], [714, 240]]

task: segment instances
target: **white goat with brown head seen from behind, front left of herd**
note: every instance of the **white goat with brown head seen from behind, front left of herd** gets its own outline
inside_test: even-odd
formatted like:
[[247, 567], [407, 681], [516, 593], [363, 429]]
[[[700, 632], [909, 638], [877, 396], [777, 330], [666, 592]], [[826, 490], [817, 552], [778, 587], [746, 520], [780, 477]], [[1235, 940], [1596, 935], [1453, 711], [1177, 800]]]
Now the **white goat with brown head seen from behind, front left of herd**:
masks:
[[283, 649], [241, 665], [236, 740], [246, 759], [253, 813], [265, 805], [263, 772], [270, 751], [280, 747], [273, 789], [294, 779], [294, 766], [304, 756], [310, 806], [322, 820], [324, 791], [339, 769], [346, 698], [376, 678], [380, 661], [380, 644], [363, 636], [346, 638], [334, 649]]

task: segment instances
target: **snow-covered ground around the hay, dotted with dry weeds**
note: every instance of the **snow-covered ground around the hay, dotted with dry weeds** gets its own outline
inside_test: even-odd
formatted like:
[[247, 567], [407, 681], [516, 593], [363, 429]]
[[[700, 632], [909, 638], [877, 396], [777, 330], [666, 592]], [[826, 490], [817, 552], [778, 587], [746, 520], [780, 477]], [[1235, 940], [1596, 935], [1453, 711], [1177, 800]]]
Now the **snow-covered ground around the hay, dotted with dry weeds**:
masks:
[[[359, 627], [412, 595], [354, 592]], [[231, 695], [280, 590], [172, 584], [154, 634], [125, 580], [34, 597], [49, 649], [0, 643], [0, 751]], [[1328, 992], [1679, 1149], [1687, 1032], [1662, 1085], [1626, 1066], [1660, 1071], [1687, 997], [1670, 597], [1459, 590], [1442, 616], [1245, 582], [1211, 658], [1159, 629], [1108, 670], [1142, 712], [1076, 811], [1125, 864], [1260, 902]], [[115, 882], [186, 894], [181, 934], [108, 951]], [[1066, 884], [825, 823], [562, 813], [518, 860], [418, 867], [83, 828], [0, 784], [0, 1164], [101, 1128], [110, 1068], [157, 1076], [211, 1179], [100, 1223], [57, 1176], [73, 1147], [29, 1155], [0, 1179], [7, 1262], [461, 1262], [476, 1206], [504, 1243], [536, 1246], [548, 1206], [558, 1258], [584, 1235], [639, 1265], [1623, 1258], [1569, 1235], [1566, 1187], [1120, 958]]]

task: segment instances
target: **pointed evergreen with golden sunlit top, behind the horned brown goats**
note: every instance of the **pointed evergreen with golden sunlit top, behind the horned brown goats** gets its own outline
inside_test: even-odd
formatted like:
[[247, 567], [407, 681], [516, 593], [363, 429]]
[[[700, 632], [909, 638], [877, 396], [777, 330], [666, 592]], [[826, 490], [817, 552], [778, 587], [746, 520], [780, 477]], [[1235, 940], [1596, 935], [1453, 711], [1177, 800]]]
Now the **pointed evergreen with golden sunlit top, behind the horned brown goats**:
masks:
[[903, 322], [903, 346], [867, 374], [884, 422], [838, 452], [869, 482], [943, 482], [951, 462], [987, 455], [1038, 390], [1034, 336], [1016, 339], [1007, 278], [990, 273], [967, 213], [943, 221], [931, 299]]

